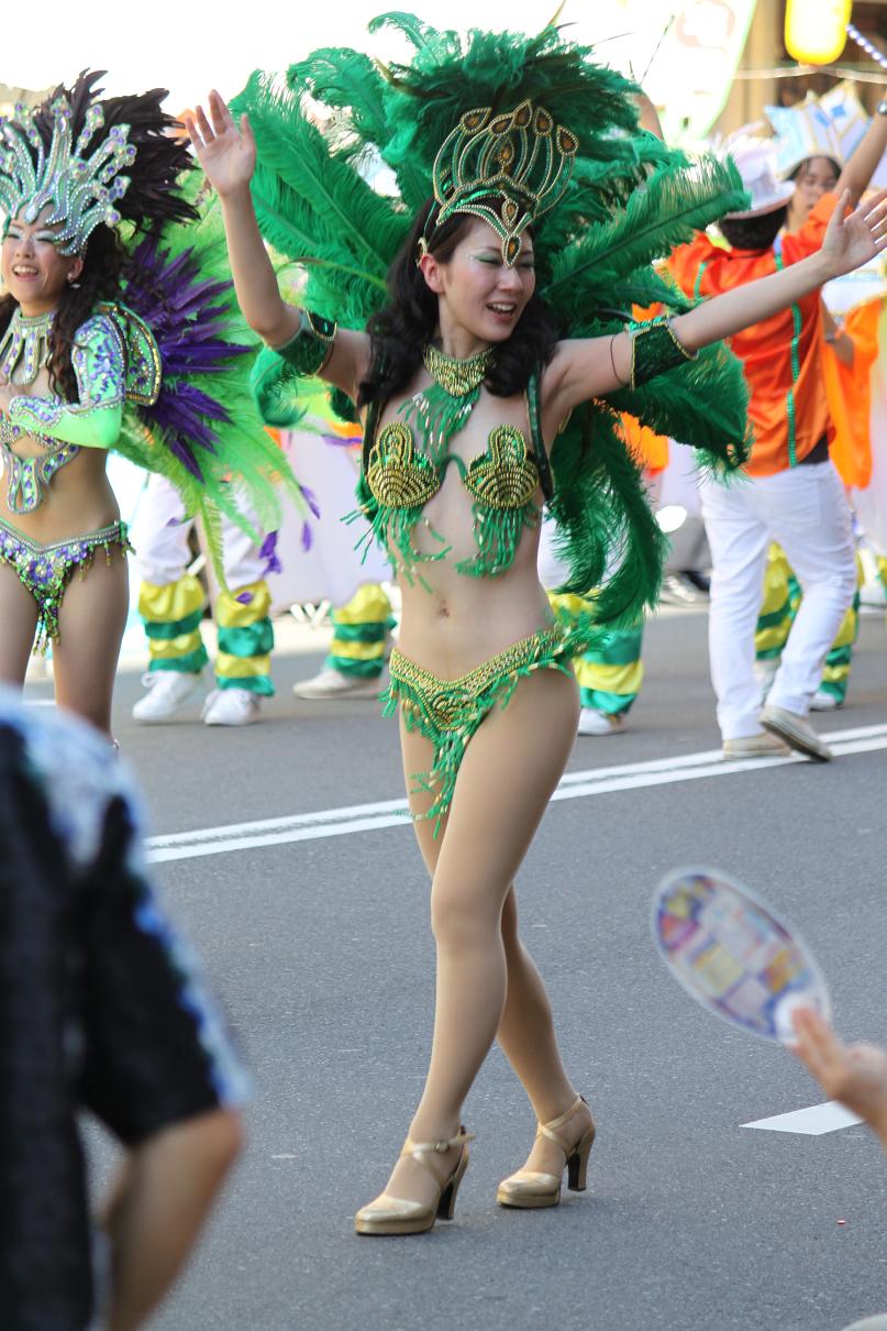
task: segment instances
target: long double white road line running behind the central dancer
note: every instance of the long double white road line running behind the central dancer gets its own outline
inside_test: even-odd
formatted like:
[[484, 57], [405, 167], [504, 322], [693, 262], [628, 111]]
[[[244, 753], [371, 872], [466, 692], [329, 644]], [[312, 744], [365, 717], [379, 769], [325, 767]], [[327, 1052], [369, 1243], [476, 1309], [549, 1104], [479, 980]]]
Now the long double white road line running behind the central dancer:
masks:
[[[868, 753], [887, 748], [887, 725], [862, 725], [823, 735], [835, 756]], [[553, 800], [577, 800], [614, 791], [634, 791], [644, 787], [669, 785], [676, 781], [696, 781], [703, 777], [734, 776], [761, 768], [785, 767], [803, 763], [799, 755], [790, 757], [734, 759], [725, 761], [719, 749], [684, 753], [676, 757], [653, 759], [648, 763], [625, 763], [620, 767], [598, 767], [585, 772], [568, 772], [552, 796]], [[354, 832], [374, 832], [383, 828], [408, 828], [406, 800], [383, 800], [375, 804], [352, 804], [338, 809], [319, 809], [315, 813], [294, 813], [253, 823], [229, 823], [191, 832], [172, 832], [148, 840], [148, 858], [153, 864], [170, 860], [191, 860], [207, 855], [227, 855], [233, 851], [255, 851], [266, 845], [285, 845], [294, 841], [315, 841], [323, 837], [350, 836]]]

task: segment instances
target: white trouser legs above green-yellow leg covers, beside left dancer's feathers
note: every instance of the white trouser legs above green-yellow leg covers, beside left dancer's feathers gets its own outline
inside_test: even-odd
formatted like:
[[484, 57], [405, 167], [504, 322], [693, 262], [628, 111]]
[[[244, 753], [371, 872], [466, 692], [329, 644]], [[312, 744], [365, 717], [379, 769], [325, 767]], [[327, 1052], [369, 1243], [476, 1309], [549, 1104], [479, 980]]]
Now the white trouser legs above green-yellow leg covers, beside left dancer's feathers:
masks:
[[[255, 523], [255, 514], [249, 504], [242, 502], [241, 508]], [[266, 562], [259, 555], [259, 547], [225, 514], [221, 514], [221, 519], [222, 563], [227, 586], [237, 591], [238, 587], [261, 582]], [[142, 582], [166, 587], [185, 575], [191, 562], [188, 543], [191, 526], [191, 522], [185, 522], [185, 506], [176, 486], [166, 476], [152, 473], [130, 530], [136, 568]]]

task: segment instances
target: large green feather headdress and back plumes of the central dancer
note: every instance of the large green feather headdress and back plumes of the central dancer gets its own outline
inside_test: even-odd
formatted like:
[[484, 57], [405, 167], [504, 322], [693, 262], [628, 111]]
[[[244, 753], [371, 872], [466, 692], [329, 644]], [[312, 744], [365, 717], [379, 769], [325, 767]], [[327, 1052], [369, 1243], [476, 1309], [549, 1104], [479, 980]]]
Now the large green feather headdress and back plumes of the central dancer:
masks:
[[[465, 202], [489, 204], [495, 154], [484, 157], [492, 140], [473, 137], [479, 126], [465, 118], [473, 114], [481, 117], [481, 133], [497, 118], [507, 129], [520, 169], [499, 182], [501, 198], [529, 206], [504, 222], [496, 209], [496, 229], [508, 244], [520, 234], [521, 217], [533, 213], [539, 290], [564, 337], [618, 331], [634, 305], [690, 307], [653, 261], [743, 206], [731, 164], [690, 160], [640, 132], [637, 88], [555, 27], [536, 36], [461, 36], [408, 13], [383, 15], [370, 31], [382, 27], [407, 37], [408, 64], [380, 65], [359, 51], [324, 48], [291, 65], [285, 81], [254, 73], [233, 104], [235, 113], [249, 112], [258, 144], [253, 197], [259, 226], [277, 250], [305, 265], [309, 307], [362, 329], [387, 303], [388, 268], [430, 200], [436, 197], [440, 216], [444, 208], [464, 210]], [[307, 97], [332, 113], [326, 137], [306, 114]], [[529, 142], [527, 124], [515, 122], [519, 113], [524, 120], [525, 106], [531, 116], [544, 112], [539, 142]], [[560, 161], [544, 157], [549, 124], [555, 134], [569, 136], [560, 138]], [[367, 184], [372, 162], [394, 174], [396, 196]], [[521, 201], [517, 186], [528, 180], [525, 193], [556, 206]], [[479, 198], [468, 197], [472, 189]], [[608, 403], [588, 403], [559, 435], [551, 508], [570, 566], [567, 590], [598, 588], [602, 620], [630, 622], [654, 599], [664, 539], [621, 439], [618, 413], [696, 445], [707, 465], [725, 471], [745, 457], [746, 402], [739, 362], [715, 346]], [[616, 564], [608, 559], [613, 546]]]

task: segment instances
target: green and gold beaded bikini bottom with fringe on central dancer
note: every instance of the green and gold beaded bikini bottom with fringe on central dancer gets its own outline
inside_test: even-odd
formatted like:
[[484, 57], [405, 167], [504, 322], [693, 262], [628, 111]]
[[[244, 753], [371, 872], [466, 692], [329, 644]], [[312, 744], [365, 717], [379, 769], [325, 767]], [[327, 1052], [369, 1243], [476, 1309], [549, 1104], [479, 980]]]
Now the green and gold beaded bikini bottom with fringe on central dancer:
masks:
[[400, 704], [407, 729], [418, 731], [434, 744], [431, 771], [418, 772], [411, 780], [414, 795], [434, 796], [422, 817], [435, 820], [435, 836], [452, 803], [465, 748], [484, 717], [496, 704], [505, 707], [519, 681], [533, 671], [570, 673], [570, 658], [586, 651], [593, 636], [585, 626], [573, 632], [540, 628], [459, 679], [439, 679], [395, 647], [391, 683], [382, 695], [383, 715], [391, 716]]

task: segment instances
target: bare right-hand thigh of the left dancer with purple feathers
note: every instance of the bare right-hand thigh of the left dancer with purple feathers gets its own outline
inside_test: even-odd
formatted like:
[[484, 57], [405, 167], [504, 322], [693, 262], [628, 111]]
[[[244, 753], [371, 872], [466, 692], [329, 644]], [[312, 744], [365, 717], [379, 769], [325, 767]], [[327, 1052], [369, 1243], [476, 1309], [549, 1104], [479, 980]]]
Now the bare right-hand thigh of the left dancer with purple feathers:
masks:
[[129, 612], [126, 560], [101, 551], [85, 578], [68, 583], [53, 647], [56, 701], [110, 733], [110, 701]]

